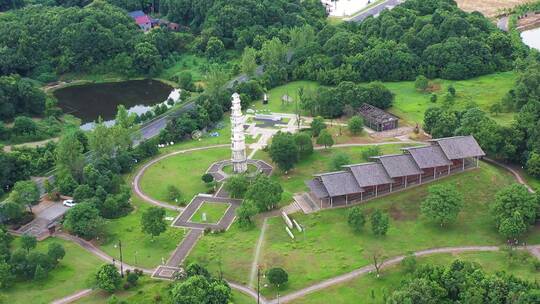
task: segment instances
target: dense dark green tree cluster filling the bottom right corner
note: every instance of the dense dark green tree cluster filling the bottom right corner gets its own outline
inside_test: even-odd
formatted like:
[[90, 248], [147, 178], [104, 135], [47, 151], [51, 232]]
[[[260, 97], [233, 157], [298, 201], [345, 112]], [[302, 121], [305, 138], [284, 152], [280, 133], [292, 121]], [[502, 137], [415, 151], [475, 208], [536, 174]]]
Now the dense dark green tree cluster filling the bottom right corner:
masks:
[[386, 300], [398, 303], [536, 303], [540, 286], [504, 272], [487, 274], [474, 263], [425, 265]]

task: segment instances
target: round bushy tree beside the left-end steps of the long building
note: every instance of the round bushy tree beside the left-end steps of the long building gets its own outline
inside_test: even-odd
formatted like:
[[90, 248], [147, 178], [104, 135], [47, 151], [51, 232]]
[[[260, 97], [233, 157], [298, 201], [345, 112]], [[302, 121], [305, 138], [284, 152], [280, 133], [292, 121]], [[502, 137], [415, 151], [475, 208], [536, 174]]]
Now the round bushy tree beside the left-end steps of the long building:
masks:
[[274, 209], [281, 200], [282, 194], [283, 188], [279, 182], [264, 174], [259, 174], [249, 186], [245, 198], [251, 200], [260, 212], [264, 212]]

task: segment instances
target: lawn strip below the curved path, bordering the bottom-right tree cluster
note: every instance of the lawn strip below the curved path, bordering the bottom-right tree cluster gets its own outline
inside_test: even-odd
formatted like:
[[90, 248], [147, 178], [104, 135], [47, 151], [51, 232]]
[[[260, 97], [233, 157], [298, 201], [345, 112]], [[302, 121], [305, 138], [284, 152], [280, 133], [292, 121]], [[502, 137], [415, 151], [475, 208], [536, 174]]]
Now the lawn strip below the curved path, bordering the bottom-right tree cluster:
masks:
[[[538, 279], [538, 273], [532, 270], [530, 262], [510, 263], [502, 252], [468, 252], [462, 254], [437, 254], [418, 258], [418, 265], [438, 264], [447, 265], [455, 259], [480, 264], [486, 272], [494, 273], [506, 271], [526, 280]], [[335, 304], [357, 303], [362, 299], [365, 304], [384, 303], [384, 294], [390, 294], [400, 286], [402, 280], [409, 277], [400, 265], [385, 269], [380, 278], [368, 274], [343, 284], [335, 285], [324, 290], [309, 294], [303, 298], [292, 301], [294, 304], [325, 304], [332, 299]]]

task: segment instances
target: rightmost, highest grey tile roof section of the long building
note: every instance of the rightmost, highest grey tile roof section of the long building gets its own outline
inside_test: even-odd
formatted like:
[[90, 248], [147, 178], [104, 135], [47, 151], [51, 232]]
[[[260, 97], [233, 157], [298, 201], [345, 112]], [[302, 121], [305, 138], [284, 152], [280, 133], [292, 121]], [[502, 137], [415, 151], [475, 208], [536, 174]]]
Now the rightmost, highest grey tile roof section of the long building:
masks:
[[480, 148], [476, 139], [472, 136], [455, 136], [434, 139], [448, 159], [461, 159], [476, 156], [485, 156], [486, 153]]

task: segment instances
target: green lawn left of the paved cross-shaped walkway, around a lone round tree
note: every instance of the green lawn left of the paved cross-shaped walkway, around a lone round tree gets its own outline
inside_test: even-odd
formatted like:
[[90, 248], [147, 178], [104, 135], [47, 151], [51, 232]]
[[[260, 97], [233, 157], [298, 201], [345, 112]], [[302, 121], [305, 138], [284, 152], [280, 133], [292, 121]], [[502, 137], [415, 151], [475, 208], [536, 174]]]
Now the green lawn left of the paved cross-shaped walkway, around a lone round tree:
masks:
[[[122, 255], [124, 262], [143, 268], [154, 268], [161, 264], [162, 258], [166, 261], [172, 251], [184, 238], [184, 230], [167, 225], [167, 230], [152, 239], [141, 230], [141, 214], [150, 204], [141, 201], [133, 195], [132, 203], [135, 210], [129, 215], [106, 220], [104, 225], [105, 240], [98, 240], [99, 247], [110, 256], [119, 259], [118, 241], [122, 242]], [[167, 216], [175, 217], [176, 212], [167, 210]], [[170, 223], [170, 222], [167, 222]]]

